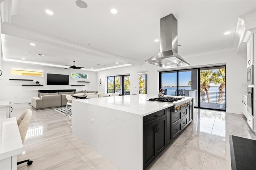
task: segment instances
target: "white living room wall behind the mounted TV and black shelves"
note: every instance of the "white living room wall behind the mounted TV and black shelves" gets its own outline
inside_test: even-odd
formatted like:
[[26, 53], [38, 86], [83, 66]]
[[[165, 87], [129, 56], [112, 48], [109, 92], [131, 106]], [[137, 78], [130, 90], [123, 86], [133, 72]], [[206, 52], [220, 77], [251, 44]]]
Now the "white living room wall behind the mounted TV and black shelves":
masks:
[[[43, 69], [44, 77], [37, 76], [22, 76], [12, 75], [12, 67], [27, 68], [27, 69]], [[31, 97], [38, 96], [38, 90], [50, 89], [76, 89], [78, 90], [96, 90], [97, 73], [93, 71], [64, 69], [58, 67], [48, 67], [42, 65], [25, 64], [17, 62], [2, 61], [2, 76], [1, 76], [1, 90], [0, 100], [12, 100], [13, 103], [26, 103], [30, 102]], [[69, 78], [69, 85], [46, 85], [47, 73], [53, 74], [66, 74], [70, 75], [71, 72], [88, 73], [88, 79], [74, 79]], [[10, 81], [9, 79], [33, 79], [34, 81]], [[78, 83], [77, 81], [90, 81], [91, 83]], [[39, 81], [44, 86], [22, 86], [22, 84], [35, 84]], [[70, 85], [85, 85], [85, 86], [70, 86]]]

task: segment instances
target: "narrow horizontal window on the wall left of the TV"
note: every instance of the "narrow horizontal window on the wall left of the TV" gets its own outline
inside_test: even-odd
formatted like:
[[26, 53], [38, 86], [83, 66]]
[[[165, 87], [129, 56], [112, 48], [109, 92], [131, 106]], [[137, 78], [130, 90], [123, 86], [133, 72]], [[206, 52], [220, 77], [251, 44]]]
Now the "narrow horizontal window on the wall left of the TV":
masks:
[[44, 70], [12, 68], [12, 75], [44, 76]]

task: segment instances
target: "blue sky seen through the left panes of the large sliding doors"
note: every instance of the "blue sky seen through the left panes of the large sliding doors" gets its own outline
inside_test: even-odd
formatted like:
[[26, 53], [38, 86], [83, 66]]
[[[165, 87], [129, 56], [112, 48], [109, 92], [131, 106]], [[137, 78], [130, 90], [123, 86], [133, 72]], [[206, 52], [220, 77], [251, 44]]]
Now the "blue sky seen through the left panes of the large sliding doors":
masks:
[[[162, 85], [176, 86], [176, 72], [162, 74]], [[179, 72], [179, 86], [188, 86], [188, 81], [191, 81], [191, 71]]]

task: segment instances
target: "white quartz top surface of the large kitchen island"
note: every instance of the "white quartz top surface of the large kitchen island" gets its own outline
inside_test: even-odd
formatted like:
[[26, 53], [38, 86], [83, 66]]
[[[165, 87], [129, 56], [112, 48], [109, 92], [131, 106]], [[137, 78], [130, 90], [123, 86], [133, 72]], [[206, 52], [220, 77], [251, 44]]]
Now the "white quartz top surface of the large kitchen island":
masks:
[[[134, 113], [142, 116], [146, 116], [151, 113], [173, 106], [172, 103], [160, 103], [160, 102], [147, 101], [150, 98], [156, 98], [156, 97], [157, 97], [156, 95], [140, 94], [140, 95], [125, 95], [125, 96], [113, 96], [113, 97], [102, 97], [102, 98], [92, 98], [92, 99], [78, 99], [78, 100], [74, 100], [74, 102], [78, 101], [78, 102], [87, 103], [90, 105], [97, 105], [100, 107], [106, 107], [110, 109], [125, 111], [128, 113]], [[191, 97], [184, 97], [184, 99], [185, 98], [190, 99]]]

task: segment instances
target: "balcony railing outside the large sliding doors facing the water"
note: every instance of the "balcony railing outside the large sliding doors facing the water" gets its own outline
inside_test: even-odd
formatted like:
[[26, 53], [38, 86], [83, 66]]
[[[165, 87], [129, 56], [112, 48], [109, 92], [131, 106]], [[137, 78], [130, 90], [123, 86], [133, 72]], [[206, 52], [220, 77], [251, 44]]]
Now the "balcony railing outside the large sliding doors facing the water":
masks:
[[[177, 91], [170, 91], [168, 90], [166, 92], [166, 95], [170, 96], [176, 96]], [[204, 92], [204, 96], [202, 93], [200, 93], [200, 101], [204, 103], [217, 103], [217, 104], [225, 104], [226, 103], [226, 93], [222, 93], [222, 100], [219, 101], [220, 99], [220, 92], [208, 92], [210, 102], [208, 101], [208, 97], [206, 95], [206, 92]], [[204, 97], [204, 98], [203, 98]]]

